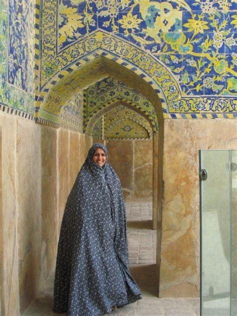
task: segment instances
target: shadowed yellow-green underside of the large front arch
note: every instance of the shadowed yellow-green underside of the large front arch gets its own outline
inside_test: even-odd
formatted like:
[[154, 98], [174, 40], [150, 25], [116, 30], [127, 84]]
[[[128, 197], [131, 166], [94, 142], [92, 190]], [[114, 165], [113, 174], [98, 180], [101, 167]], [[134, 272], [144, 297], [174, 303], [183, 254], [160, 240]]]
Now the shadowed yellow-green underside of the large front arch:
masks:
[[[141, 72], [140, 69], [139, 72]], [[129, 69], [114, 60], [99, 56], [64, 76], [51, 87], [40, 107], [39, 118], [46, 119], [50, 113], [50, 119], [55, 123], [60, 123], [63, 106], [72, 95], [108, 76], [124, 82], [142, 94], [151, 102], [155, 112], [160, 117], [162, 116], [161, 101], [157, 90], [154, 89], [157, 86], [152, 81], [147, 82], [133, 68]]]

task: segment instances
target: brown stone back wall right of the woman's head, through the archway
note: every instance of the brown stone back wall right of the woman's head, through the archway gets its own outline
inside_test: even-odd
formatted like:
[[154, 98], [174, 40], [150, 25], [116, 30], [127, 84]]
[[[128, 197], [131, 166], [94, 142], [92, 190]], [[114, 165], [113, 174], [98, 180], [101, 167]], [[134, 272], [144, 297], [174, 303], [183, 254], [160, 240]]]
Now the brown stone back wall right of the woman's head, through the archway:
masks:
[[125, 201], [152, 200], [152, 139], [107, 140], [105, 143]]

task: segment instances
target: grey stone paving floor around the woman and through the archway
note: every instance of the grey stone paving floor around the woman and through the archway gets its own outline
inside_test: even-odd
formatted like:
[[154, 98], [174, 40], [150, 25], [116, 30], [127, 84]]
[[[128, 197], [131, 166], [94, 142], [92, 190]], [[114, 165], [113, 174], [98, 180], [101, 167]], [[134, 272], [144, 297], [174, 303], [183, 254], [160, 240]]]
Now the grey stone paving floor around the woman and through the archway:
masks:
[[[156, 231], [151, 229], [152, 204], [144, 202], [125, 203], [125, 206], [130, 271], [141, 289], [142, 299], [112, 311], [109, 316], [199, 315], [198, 298], [157, 298], [155, 269]], [[53, 275], [46, 280], [45, 286], [22, 315], [58, 315], [51, 311], [52, 293]]]

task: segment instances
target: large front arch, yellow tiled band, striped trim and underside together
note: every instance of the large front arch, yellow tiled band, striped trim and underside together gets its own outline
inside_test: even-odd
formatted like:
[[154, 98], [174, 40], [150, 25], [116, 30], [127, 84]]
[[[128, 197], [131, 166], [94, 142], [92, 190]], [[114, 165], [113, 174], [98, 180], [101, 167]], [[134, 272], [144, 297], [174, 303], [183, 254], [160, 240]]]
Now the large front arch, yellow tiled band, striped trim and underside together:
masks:
[[[159, 60], [125, 39], [101, 30], [56, 54], [54, 63], [57, 72], [50, 77], [42, 76], [40, 92], [35, 90], [35, 116], [45, 118], [45, 112], [51, 113], [50, 119], [55, 123], [59, 122], [67, 94], [79, 92], [106, 76], [123, 81], [156, 103], [153, 105], [160, 116], [162, 112], [168, 113], [181, 97], [176, 79]], [[132, 80], [135, 75], [136, 80]]]

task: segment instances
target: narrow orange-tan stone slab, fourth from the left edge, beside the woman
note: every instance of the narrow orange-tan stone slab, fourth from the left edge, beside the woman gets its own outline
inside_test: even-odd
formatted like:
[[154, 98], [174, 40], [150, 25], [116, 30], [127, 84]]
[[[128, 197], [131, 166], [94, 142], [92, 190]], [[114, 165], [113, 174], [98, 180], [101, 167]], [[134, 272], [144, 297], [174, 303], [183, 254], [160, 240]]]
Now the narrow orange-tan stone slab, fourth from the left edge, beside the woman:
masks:
[[57, 134], [57, 165], [58, 165], [58, 222], [57, 234], [59, 235], [61, 219], [69, 194], [69, 131], [60, 128]]

